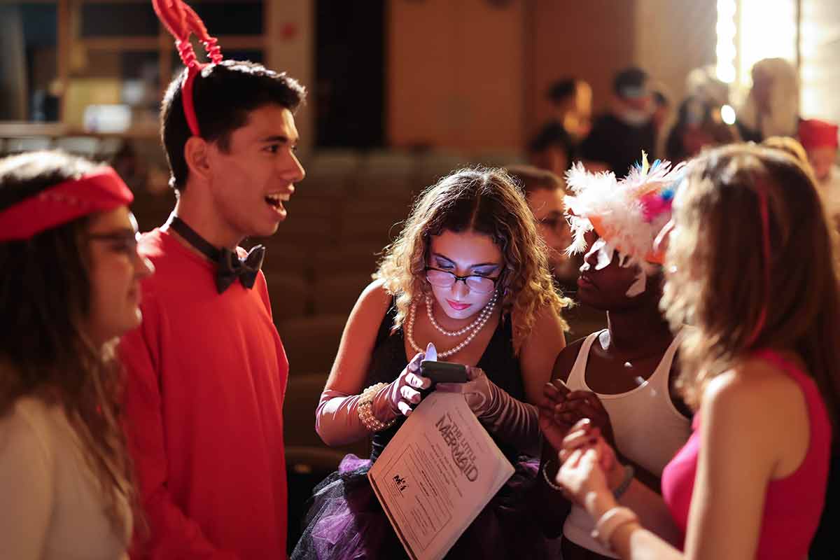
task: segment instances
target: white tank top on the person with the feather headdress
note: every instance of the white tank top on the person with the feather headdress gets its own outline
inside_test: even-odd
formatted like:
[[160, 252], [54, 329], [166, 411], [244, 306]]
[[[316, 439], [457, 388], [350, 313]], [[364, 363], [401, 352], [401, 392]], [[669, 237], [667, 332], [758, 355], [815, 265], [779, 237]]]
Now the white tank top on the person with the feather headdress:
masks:
[[[586, 362], [592, 343], [601, 332], [593, 332], [580, 346], [566, 381], [570, 390], [591, 391], [586, 385]], [[619, 453], [656, 476], [662, 476], [662, 469], [691, 435], [691, 421], [676, 409], [669, 390], [671, 363], [679, 346], [680, 335], [677, 335], [654, 373], [635, 389], [617, 395], [596, 393], [610, 415]], [[633, 505], [623, 501], [622, 505], [633, 509]], [[563, 535], [580, 547], [617, 558], [592, 538], [594, 528], [595, 522], [589, 514], [574, 505], [563, 526]]]

